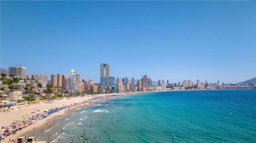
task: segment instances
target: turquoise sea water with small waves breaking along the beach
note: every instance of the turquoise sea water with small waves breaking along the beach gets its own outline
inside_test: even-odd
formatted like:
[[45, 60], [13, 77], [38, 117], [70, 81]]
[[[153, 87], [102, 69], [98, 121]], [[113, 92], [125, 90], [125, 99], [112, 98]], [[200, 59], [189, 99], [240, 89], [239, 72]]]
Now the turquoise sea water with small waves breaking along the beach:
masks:
[[[70, 135], [74, 143], [171, 143], [172, 134], [175, 143], [256, 143], [256, 90], [140, 93], [74, 109], [53, 122], [30, 135], [48, 141], [54, 134], [50, 142], [62, 143], [71, 143]], [[80, 139], [84, 131], [90, 139]]]

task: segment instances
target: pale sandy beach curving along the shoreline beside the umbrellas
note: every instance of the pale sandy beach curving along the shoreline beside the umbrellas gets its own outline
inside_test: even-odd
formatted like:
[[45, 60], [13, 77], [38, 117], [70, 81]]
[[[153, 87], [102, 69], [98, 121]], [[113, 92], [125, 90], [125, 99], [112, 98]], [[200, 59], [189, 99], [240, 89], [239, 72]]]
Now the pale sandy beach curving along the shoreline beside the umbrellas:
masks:
[[[138, 92], [134, 92], [134, 93], [138, 93]], [[100, 95], [89, 95], [89, 96], [85, 96], [85, 97], [73, 97], [71, 99], [59, 99], [54, 101], [53, 103], [40, 103], [40, 104], [36, 104], [36, 105], [32, 105], [32, 106], [24, 106], [24, 107], [14, 107], [15, 110], [11, 110], [10, 112], [1, 112], [0, 113], [0, 126], [4, 126], [6, 124], [9, 124], [15, 120], [20, 120], [22, 121], [24, 118], [26, 117], [31, 117], [32, 115], [35, 115], [36, 113], [40, 113], [43, 112], [46, 109], [50, 109], [50, 108], [55, 108], [55, 107], [61, 107], [63, 105], [69, 105], [69, 104], [73, 104], [73, 103], [79, 103], [82, 101], [88, 101], [92, 98], [95, 97], [99, 97], [99, 99], [84, 103], [84, 104], [80, 104], [80, 105], [76, 105], [67, 109], [63, 109], [63, 110], [59, 110], [58, 112], [55, 112], [51, 115], [49, 115], [47, 118], [41, 119], [40, 121], [36, 121], [35, 123], [32, 123], [30, 126], [27, 126], [26, 128], [22, 129], [21, 131], [16, 132], [16, 134], [12, 134], [9, 135], [7, 137], [4, 137], [5, 140], [1, 140], [1, 143], [7, 143], [9, 142], [9, 139], [17, 139], [17, 137], [21, 137], [31, 131], [33, 131], [35, 128], [41, 127], [41, 126], [46, 126], [45, 124], [47, 123], [47, 121], [52, 120], [54, 118], [58, 118], [61, 115], [65, 115], [67, 114], [68, 110], [70, 109], [74, 109], [77, 107], [81, 107], [81, 106], [86, 106], [88, 104], [91, 104], [92, 102], [96, 102], [96, 101], [100, 101], [100, 100], [104, 100], [107, 98], [111, 98], [111, 97], [115, 97], [115, 96], [110, 96], [110, 95], [117, 95], [117, 96], [122, 96], [122, 95], [128, 95], [128, 94], [134, 94], [134, 93], [115, 93], [115, 94], [100, 94]], [[141, 93], [141, 92], [139, 92]], [[38, 111], [40, 110], [40, 111]], [[32, 111], [35, 111], [35, 113], [31, 113]], [[3, 130], [0, 131], [1, 133], [3, 133]]]

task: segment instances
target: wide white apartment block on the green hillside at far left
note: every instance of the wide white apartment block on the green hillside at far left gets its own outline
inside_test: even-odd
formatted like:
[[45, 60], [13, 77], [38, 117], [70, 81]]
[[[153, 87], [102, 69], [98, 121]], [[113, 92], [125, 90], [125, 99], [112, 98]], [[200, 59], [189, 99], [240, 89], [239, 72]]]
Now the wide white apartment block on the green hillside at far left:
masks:
[[9, 75], [19, 76], [22, 79], [26, 79], [26, 67], [22, 65], [15, 65], [9, 67]]

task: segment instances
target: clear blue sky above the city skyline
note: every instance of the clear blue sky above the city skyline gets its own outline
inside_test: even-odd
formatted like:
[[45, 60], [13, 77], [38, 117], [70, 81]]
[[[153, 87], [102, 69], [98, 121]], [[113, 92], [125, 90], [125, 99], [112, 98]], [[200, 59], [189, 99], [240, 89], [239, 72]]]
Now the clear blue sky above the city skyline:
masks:
[[1, 1], [0, 66], [153, 81], [256, 77], [255, 1]]

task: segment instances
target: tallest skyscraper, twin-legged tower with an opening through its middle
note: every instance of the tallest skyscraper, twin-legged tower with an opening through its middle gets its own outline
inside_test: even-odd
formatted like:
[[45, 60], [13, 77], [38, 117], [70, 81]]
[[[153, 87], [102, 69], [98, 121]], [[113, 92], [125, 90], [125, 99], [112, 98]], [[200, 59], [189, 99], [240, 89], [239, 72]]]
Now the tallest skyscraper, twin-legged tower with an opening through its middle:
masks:
[[[105, 77], [105, 78], [102, 78]], [[101, 63], [100, 64], [100, 85], [105, 87], [109, 86], [109, 64]], [[104, 82], [104, 83], [102, 83]]]

